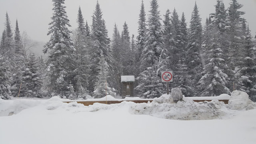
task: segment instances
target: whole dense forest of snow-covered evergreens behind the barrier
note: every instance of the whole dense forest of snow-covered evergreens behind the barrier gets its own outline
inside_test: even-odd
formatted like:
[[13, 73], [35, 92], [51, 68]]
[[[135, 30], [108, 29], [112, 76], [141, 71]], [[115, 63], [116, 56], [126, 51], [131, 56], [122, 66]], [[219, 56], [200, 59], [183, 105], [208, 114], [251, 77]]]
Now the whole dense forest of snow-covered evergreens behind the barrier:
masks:
[[106, 91], [116, 96], [122, 75], [135, 76], [135, 96], [155, 98], [166, 92], [161, 71], [172, 70], [170, 87], [180, 88], [185, 96], [241, 90], [256, 101], [255, 39], [237, 0], [230, 0], [228, 8], [216, 0], [215, 12], [203, 22], [195, 3], [189, 24], [184, 13], [179, 16], [175, 9], [166, 10], [162, 19], [157, 0], [151, 0], [146, 12], [142, 0], [138, 36], [130, 34], [124, 22], [122, 32], [113, 26], [111, 39], [98, 1], [91, 25], [79, 7], [75, 30], [68, 29], [64, 1], [52, 0], [50, 40], [43, 50], [46, 60], [28, 51], [28, 37], [20, 33], [18, 20], [12, 30], [6, 12], [0, 44], [0, 98], [58, 95], [74, 100], [102, 98]]

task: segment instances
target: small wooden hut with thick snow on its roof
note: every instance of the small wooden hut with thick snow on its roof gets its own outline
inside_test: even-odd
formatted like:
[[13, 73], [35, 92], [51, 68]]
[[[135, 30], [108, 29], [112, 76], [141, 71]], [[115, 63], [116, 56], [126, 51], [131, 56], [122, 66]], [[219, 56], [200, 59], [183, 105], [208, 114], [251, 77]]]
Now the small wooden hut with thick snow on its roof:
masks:
[[121, 76], [121, 82], [122, 82], [122, 98], [133, 97], [135, 77]]

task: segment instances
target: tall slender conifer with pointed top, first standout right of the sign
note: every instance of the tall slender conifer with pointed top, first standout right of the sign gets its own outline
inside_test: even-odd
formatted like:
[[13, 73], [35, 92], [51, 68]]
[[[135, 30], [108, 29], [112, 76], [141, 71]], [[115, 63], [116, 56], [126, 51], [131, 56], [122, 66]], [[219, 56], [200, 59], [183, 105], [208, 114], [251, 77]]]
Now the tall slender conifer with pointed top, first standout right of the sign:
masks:
[[[190, 86], [196, 86], [198, 80], [201, 78], [202, 61], [201, 61], [201, 47], [202, 47], [202, 24], [199, 15], [197, 4], [195, 3], [190, 20], [190, 29], [188, 34], [188, 45], [186, 48], [186, 62], [188, 65], [188, 74], [190, 75]], [[196, 90], [195, 90], [196, 93]]]

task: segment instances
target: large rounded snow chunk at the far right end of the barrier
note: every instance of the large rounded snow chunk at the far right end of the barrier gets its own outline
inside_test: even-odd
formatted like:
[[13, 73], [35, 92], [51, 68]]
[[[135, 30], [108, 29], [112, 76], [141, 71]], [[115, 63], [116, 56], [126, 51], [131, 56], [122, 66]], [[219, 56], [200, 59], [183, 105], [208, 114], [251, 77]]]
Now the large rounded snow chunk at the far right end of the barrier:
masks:
[[228, 106], [232, 110], [242, 110], [249, 104], [249, 96], [246, 92], [234, 90], [231, 94], [231, 98], [228, 101]]

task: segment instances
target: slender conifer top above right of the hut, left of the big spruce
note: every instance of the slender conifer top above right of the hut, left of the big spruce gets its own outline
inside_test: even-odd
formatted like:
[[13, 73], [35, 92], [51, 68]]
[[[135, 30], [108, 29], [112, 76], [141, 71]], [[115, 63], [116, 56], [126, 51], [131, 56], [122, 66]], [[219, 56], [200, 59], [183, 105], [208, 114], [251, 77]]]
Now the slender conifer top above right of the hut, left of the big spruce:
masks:
[[145, 12], [143, 0], [141, 1], [138, 24], [139, 24], [138, 36], [136, 38], [137, 38], [138, 58], [140, 58], [142, 54], [142, 50], [145, 45], [145, 38], [146, 38], [146, 12]]

